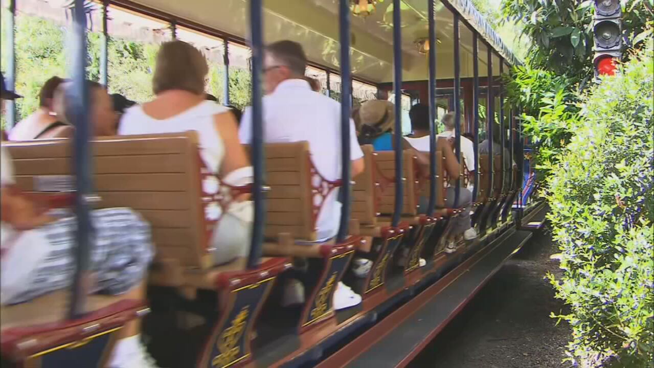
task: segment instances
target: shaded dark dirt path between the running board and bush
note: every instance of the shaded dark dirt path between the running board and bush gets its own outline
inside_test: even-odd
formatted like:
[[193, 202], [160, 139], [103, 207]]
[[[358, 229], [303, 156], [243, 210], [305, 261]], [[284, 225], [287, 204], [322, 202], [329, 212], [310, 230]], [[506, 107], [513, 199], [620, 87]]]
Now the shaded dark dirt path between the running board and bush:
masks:
[[566, 368], [569, 329], [549, 318], [563, 307], [547, 271], [549, 235], [536, 233], [409, 365], [415, 368]]

